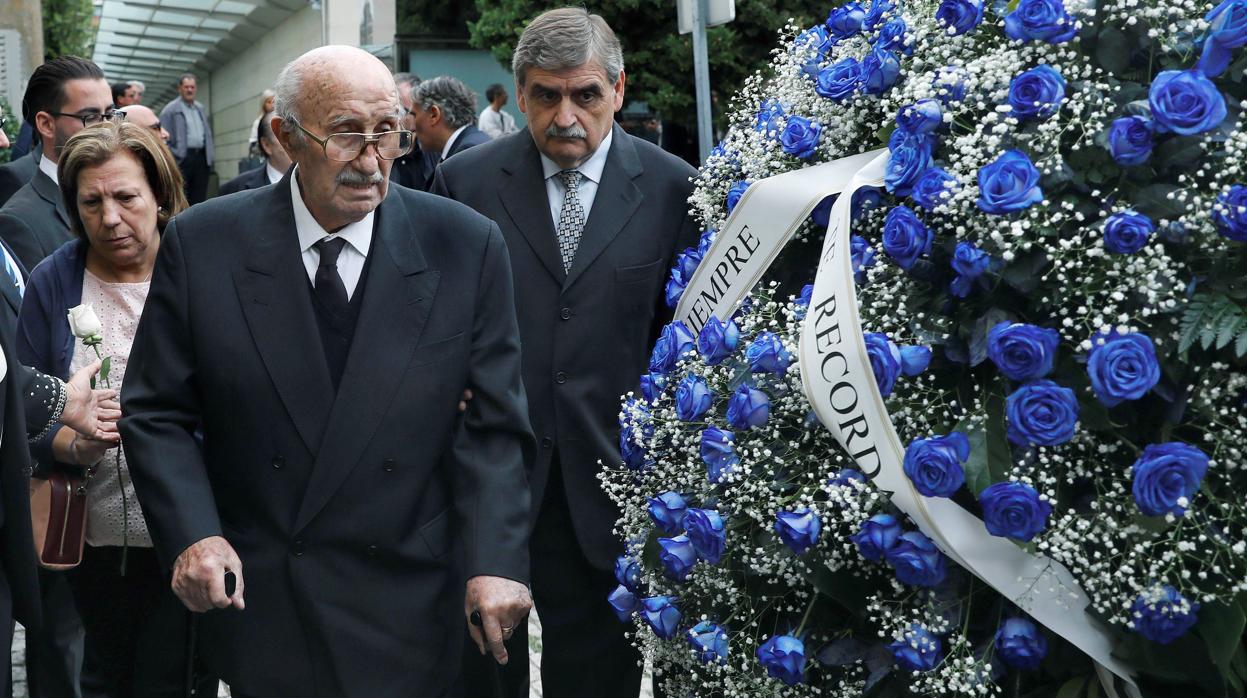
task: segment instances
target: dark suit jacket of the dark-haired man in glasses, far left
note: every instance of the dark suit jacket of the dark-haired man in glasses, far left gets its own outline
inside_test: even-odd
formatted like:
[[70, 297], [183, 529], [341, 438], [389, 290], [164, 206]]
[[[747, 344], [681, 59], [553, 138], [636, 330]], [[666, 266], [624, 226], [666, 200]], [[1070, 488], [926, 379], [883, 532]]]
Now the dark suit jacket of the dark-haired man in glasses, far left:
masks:
[[74, 238], [61, 189], [51, 177], [36, 170], [0, 208], [0, 238], [27, 269]]

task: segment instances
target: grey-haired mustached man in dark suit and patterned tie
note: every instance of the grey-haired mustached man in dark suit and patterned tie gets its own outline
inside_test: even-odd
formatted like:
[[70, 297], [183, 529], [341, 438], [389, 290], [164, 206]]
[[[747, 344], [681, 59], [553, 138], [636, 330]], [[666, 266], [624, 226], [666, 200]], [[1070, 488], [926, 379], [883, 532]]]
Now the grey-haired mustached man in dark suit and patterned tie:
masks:
[[[515, 270], [524, 384], [541, 441], [530, 475], [532, 593], [546, 696], [627, 696], [638, 654], [606, 596], [622, 543], [599, 461], [619, 462], [620, 395], [638, 384], [676, 254], [696, 244], [686, 199], [695, 171], [614, 125], [624, 56], [580, 7], [532, 20], [511, 60], [529, 128], [446, 161], [435, 193], [503, 229]], [[470, 662], [471, 659], [469, 659]], [[526, 672], [509, 667], [509, 694]], [[465, 681], [480, 676], [469, 667]]]

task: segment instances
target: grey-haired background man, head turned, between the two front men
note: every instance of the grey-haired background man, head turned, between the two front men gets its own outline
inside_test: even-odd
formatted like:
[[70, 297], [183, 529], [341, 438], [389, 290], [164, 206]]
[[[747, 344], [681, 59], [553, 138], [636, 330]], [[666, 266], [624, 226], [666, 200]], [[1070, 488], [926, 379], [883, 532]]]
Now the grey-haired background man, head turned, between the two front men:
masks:
[[425, 80], [412, 92], [412, 130], [436, 163], [489, 142], [476, 128], [476, 93], [454, 77]]

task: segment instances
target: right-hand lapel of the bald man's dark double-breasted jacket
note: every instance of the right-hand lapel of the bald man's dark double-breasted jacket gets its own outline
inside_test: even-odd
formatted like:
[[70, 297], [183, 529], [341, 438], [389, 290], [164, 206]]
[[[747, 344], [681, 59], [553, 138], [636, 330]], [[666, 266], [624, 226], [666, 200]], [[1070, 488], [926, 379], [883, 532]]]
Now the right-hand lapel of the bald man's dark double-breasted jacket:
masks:
[[425, 212], [408, 211], [398, 192], [390, 191], [377, 209], [355, 335], [296, 531], [315, 517], [359, 462], [394, 400], [433, 308], [440, 277], [426, 268], [412, 221], [439, 224], [428, 221]]

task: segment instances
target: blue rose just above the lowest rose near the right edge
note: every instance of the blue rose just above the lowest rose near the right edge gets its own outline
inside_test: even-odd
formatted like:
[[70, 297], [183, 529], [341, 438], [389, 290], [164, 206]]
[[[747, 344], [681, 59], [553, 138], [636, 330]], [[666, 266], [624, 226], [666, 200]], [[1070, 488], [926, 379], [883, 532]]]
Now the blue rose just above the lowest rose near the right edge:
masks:
[[[1131, 467], [1131, 494], [1147, 516], [1182, 516], [1208, 471], [1208, 456], [1181, 441], [1151, 444]], [[1183, 501], [1185, 500], [1185, 501]]]

